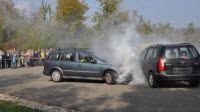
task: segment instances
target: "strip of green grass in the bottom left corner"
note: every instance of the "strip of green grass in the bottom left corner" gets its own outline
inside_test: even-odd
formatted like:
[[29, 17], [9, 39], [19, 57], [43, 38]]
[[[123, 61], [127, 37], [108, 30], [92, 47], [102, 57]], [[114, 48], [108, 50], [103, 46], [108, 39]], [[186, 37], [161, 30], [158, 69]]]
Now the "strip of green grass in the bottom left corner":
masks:
[[28, 107], [19, 106], [5, 101], [0, 101], [0, 112], [45, 112]]

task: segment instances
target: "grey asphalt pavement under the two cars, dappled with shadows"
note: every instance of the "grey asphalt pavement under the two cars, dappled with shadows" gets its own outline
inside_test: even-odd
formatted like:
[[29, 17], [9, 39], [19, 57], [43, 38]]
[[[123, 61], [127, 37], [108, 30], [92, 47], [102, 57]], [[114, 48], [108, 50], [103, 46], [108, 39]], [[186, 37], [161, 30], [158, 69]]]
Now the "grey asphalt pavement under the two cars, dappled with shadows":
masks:
[[0, 92], [86, 112], [200, 112], [200, 88], [187, 83], [107, 85], [98, 80], [55, 83], [42, 67], [0, 70]]

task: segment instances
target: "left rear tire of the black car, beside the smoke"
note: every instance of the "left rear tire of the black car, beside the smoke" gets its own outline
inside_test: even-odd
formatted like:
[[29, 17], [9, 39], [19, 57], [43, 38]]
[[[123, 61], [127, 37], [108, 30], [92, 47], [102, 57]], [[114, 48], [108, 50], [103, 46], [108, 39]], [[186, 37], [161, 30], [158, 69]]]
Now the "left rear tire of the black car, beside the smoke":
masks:
[[149, 75], [148, 75], [148, 83], [149, 83], [149, 86], [152, 87], [152, 88], [158, 87], [158, 81], [155, 80], [155, 76], [153, 75], [152, 72], [150, 72]]

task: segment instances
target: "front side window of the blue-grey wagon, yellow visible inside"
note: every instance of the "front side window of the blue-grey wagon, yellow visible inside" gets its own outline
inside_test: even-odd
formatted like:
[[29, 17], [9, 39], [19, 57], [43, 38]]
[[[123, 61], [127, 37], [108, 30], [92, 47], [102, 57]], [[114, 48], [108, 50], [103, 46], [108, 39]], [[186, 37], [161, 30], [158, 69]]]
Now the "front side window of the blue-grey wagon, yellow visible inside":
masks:
[[78, 57], [79, 57], [79, 62], [88, 62], [90, 63], [91, 60], [93, 60], [94, 58], [89, 55], [88, 53], [78, 53]]

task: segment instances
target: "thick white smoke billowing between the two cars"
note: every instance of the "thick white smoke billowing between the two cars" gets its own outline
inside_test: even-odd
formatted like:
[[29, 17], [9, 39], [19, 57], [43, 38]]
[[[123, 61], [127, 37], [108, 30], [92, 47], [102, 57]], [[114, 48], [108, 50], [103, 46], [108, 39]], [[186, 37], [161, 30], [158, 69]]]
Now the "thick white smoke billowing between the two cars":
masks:
[[124, 29], [117, 31], [120, 33], [108, 32], [107, 41], [95, 40], [94, 48], [97, 55], [102, 56], [108, 63], [119, 67], [119, 83], [130, 73], [133, 80], [131, 85], [145, 83], [145, 77], [141, 71], [139, 62], [140, 35], [136, 32], [135, 25], [125, 25]]

